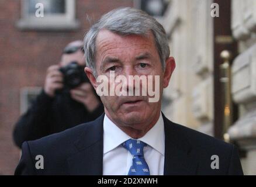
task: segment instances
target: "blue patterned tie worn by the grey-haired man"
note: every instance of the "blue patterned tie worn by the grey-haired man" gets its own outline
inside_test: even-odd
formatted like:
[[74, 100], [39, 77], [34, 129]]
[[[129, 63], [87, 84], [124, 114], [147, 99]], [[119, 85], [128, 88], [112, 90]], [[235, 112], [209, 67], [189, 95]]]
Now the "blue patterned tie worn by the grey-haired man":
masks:
[[133, 156], [133, 164], [129, 169], [128, 175], [150, 175], [147, 162], [144, 158], [143, 148], [146, 143], [140, 140], [129, 139], [122, 144]]

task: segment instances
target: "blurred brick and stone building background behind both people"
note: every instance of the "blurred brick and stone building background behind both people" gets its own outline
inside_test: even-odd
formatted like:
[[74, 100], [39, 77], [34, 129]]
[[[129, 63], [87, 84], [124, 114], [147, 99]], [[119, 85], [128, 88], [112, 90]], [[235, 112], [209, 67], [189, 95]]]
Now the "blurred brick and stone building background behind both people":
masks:
[[47, 67], [120, 6], [143, 9], [168, 34], [177, 67], [164, 91], [165, 115], [236, 144], [244, 173], [256, 175], [255, 0], [0, 0], [0, 175], [18, 164], [13, 127], [39, 94]]

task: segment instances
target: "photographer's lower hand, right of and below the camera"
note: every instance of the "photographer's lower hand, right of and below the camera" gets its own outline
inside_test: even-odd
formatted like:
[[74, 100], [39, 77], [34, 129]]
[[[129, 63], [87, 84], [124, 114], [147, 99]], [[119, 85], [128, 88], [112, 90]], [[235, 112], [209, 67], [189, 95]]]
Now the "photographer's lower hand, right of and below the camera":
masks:
[[99, 100], [96, 97], [92, 85], [83, 83], [77, 88], [71, 89], [71, 98], [83, 103], [89, 112], [93, 112], [99, 106]]

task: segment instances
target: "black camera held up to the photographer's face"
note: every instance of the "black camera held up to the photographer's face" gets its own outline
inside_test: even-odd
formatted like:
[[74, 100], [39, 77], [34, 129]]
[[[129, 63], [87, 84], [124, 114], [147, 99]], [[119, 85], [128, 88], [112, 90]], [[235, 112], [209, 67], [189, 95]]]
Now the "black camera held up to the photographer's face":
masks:
[[72, 61], [70, 64], [59, 69], [64, 75], [64, 89], [70, 90], [83, 82], [89, 82], [84, 68], [85, 66], [79, 65], [76, 61]]

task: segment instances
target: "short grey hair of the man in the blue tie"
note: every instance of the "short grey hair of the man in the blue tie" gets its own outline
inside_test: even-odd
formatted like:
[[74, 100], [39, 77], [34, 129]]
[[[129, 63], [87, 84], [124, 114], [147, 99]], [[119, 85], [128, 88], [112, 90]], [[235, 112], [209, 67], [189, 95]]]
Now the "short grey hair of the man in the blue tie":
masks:
[[85, 60], [87, 67], [91, 68], [95, 77], [96, 37], [101, 29], [107, 29], [122, 36], [130, 34], [146, 36], [148, 32], [153, 33], [164, 70], [165, 60], [169, 57], [168, 38], [164, 27], [152, 16], [139, 9], [117, 8], [103, 15], [84, 37]]

